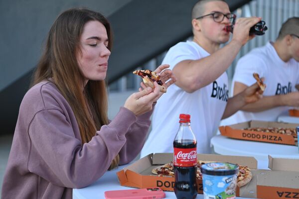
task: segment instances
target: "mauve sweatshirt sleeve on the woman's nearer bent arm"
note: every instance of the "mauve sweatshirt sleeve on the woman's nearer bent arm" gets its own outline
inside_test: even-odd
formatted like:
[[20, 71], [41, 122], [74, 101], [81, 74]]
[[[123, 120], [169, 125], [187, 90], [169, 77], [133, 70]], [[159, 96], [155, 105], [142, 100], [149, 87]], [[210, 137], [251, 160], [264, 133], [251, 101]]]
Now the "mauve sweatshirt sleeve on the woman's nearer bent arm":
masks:
[[[133, 134], [138, 134], [139, 127], [144, 125], [137, 120], [131, 111], [122, 108], [115, 120], [102, 126], [96, 136], [82, 146], [61, 110], [43, 109], [35, 114], [28, 127], [30, 151], [27, 168], [57, 186], [86, 187], [108, 170], [121, 150], [125, 157], [122, 160], [127, 161], [132, 159], [131, 155], [126, 156], [127, 153], [135, 150], [137, 153], [138, 149], [131, 146], [136, 142], [134, 139], [138, 139], [133, 138]], [[130, 135], [126, 135], [127, 132]], [[130, 140], [128, 143], [127, 139]]]

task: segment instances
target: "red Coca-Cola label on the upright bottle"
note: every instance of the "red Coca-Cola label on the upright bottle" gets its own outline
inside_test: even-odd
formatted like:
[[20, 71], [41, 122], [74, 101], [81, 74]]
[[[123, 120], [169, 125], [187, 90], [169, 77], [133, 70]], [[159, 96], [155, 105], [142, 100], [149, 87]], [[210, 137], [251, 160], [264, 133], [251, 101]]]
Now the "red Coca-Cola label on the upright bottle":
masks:
[[197, 164], [196, 148], [173, 148], [173, 165], [176, 167], [194, 167]]

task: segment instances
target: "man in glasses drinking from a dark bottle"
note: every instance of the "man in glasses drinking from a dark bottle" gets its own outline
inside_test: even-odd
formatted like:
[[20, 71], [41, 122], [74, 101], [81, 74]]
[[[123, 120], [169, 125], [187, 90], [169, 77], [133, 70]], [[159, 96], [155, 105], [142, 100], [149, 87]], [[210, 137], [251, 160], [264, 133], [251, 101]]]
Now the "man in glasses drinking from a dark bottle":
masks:
[[261, 97], [257, 84], [233, 98], [228, 97], [225, 70], [241, 47], [254, 37], [249, 36], [250, 27], [261, 20], [260, 17], [237, 19], [232, 40], [220, 48], [230, 38], [226, 26], [234, 19], [224, 0], [199, 0], [193, 6], [193, 40], [174, 45], [163, 60], [170, 65], [177, 81], [156, 104], [152, 130], [141, 157], [153, 152], [173, 152], [180, 113], [191, 115], [197, 152], [210, 153], [210, 140], [221, 118]]

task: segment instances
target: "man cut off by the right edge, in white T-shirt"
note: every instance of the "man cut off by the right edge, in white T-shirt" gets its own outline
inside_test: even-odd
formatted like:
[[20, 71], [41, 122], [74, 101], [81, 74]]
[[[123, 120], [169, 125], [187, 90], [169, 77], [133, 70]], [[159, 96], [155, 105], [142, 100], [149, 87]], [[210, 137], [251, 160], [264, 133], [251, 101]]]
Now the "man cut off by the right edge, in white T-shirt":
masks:
[[267, 85], [263, 99], [248, 104], [225, 124], [249, 120], [277, 121], [291, 107], [299, 108], [299, 17], [289, 18], [281, 27], [275, 42], [255, 48], [239, 59], [233, 78], [234, 95], [255, 80], [252, 71], [265, 77]]

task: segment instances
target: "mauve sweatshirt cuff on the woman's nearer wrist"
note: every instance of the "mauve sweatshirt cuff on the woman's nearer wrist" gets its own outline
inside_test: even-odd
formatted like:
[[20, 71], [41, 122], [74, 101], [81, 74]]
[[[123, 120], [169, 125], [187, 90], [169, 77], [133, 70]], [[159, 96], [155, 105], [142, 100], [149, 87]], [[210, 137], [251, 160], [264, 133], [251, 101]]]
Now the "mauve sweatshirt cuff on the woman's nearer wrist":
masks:
[[137, 120], [136, 115], [125, 107], [121, 107], [118, 114], [111, 121], [109, 126], [113, 126], [116, 129], [119, 136], [124, 137], [128, 132], [130, 126]]

